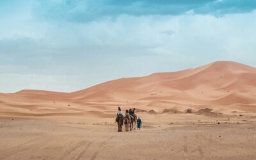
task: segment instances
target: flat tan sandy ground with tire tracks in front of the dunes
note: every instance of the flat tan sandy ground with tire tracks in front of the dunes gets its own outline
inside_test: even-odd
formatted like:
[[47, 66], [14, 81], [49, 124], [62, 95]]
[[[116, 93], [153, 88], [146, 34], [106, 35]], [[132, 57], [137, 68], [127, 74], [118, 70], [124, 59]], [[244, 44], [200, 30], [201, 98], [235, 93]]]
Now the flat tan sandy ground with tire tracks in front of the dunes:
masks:
[[256, 159], [255, 116], [138, 114], [132, 132], [114, 118], [2, 116], [0, 159]]

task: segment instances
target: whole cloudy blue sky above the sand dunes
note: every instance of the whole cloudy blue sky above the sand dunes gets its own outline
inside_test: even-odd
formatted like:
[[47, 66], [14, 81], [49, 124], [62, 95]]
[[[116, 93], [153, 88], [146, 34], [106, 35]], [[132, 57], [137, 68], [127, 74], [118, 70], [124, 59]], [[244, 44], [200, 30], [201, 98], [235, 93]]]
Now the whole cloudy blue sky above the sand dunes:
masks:
[[0, 92], [74, 92], [213, 61], [256, 67], [256, 0], [1, 0]]

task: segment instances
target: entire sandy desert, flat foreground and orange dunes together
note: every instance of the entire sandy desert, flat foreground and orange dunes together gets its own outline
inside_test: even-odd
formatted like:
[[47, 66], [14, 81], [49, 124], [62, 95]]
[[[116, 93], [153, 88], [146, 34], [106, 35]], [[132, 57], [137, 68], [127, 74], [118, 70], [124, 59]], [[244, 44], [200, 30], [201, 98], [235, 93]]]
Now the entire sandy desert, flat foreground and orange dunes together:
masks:
[[[77, 92], [0, 93], [0, 159], [256, 159], [256, 68], [216, 61]], [[117, 132], [118, 106], [142, 128]]]

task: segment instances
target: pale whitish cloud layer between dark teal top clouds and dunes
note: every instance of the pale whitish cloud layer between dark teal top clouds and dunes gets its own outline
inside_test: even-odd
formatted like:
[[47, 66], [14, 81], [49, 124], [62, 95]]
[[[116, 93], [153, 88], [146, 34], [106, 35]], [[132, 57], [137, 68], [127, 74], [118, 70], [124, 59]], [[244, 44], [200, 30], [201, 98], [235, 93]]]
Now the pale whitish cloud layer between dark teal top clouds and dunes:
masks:
[[119, 15], [84, 24], [31, 19], [17, 30], [6, 25], [0, 31], [0, 92], [72, 92], [218, 60], [255, 66], [255, 16]]

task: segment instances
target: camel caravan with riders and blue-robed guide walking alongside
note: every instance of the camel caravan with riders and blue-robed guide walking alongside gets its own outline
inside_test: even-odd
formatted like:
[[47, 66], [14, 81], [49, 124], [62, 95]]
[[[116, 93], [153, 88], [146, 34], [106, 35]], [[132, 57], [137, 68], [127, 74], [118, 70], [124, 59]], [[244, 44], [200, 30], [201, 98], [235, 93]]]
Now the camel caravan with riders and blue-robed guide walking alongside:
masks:
[[136, 130], [136, 124], [137, 129], [140, 129], [141, 127], [141, 119], [140, 117], [137, 119], [137, 115], [135, 114], [135, 108], [129, 109], [129, 111], [126, 109], [125, 116], [122, 113], [122, 110], [120, 107], [118, 107], [118, 111], [116, 114], [116, 122], [118, 126], [118, 132], [122, 132], [122, 128], [124, 125], [124, 129], [126, 132], [134, 131]]

